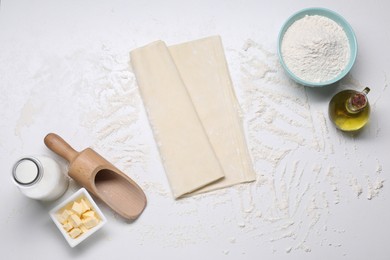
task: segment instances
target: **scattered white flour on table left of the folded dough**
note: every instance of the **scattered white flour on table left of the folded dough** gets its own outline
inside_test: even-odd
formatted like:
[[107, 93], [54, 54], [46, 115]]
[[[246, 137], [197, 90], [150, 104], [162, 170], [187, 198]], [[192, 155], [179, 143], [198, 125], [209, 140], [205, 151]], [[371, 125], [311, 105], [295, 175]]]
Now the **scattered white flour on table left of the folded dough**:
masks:
[[124, 170], [144, 168], [148, 148], [142, 138], [141, 100], [128, 53], [113, 53], [102, 46], [99, 55], [90, 59], [84, 87], [91, 102], [80, 122], [90, 129], [95, 140], [92, 147], [104, 151], [110, 162]]

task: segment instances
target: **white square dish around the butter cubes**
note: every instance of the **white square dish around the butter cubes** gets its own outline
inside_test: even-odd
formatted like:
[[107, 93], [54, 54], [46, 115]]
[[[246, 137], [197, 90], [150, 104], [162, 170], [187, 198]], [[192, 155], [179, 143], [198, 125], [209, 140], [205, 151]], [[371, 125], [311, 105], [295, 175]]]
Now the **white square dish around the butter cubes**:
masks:
[[[97, 217], [99, 218], [99, 223], [89, 229], [87, 232], [82, 233], [80, 236], [76, 238], [72, 238], [66, 230], [63, 228], [62, 224], [57, 219], [57, 213], [59, 213], [63, 208], [67, 207], [69, 204], [71, 204], [73, 201], [77, 201], [81, 198], [84, 198], [87, 200], [89, 205], [91, 206], [92, 210], [95, 211]], [[84, 241], [87, 237], [91, 236], [93, 233], [95, 233], [97, 230], [99, 230], [104, 224], [106, 224], [107, 219], [101, 212], [101, 210], [96, 205], [95, 201], [92, 199], [91, 195], [89, 195], [88, 191], [85, 188], [79, 189], [77, 192], [75, 192], [73, 195], [71, 195], [69, 198], [58, 204], [55, 208], [50, 210], [49, 212], [51, 219], [56, 224], [58, 229], [61, 231], [62, 235], [65, 237], [66, 241], [69, 243], [71, 247], [75, 247], [82, 241]]]

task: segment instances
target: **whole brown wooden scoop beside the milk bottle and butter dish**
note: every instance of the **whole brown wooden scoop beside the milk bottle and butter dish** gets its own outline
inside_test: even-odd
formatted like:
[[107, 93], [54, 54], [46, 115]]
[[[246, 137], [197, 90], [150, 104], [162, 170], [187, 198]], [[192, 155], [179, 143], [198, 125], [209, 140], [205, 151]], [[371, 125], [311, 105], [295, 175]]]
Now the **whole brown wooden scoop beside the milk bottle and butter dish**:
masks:
[[50, 133], [46, 146], [69, 162], [69, 176], [119, 215], [134, 220], [146, 206], [142, 189], [126, 174], [91, 148], [75, 151], [60, 136]]

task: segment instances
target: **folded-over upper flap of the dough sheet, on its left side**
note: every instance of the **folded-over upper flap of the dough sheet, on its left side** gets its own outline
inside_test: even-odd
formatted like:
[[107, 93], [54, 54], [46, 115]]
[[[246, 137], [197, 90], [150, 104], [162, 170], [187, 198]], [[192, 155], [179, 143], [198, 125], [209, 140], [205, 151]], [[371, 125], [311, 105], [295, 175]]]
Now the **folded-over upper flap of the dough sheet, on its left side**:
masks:
[[222, 168], [166, 45], [154, 42], [130, 55], [174, 197], [223, 178]]

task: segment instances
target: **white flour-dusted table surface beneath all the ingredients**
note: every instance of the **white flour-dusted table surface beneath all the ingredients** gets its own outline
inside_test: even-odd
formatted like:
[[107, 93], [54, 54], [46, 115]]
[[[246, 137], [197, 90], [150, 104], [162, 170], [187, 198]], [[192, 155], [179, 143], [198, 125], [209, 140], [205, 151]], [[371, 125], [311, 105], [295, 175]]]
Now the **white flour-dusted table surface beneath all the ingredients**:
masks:
[[[359, 52], [324, 89], [289, 81], [277, 35], [292, 13], [343, 15]], [[390, 259], [388, 1], [0, 1], [1, 259]], [[175, 201], [140, 99], [129, 51], [220, 35], [258, 180]], [[358, 134], [327, 117], [331, 96], [370, 86]], [[107, 225], [70, 248], [49, 218], [59, 201], [24, 197], [13, 163], [48, 155], [56, 132], [92, 147], [145, 190], [127, 223], [98, 202]], [[381, 185], [383, 183], [383, 187]], [[71, 182], [63, 198], [79, 188]], [[63, 199], [62, 198], [62, 199]]]

